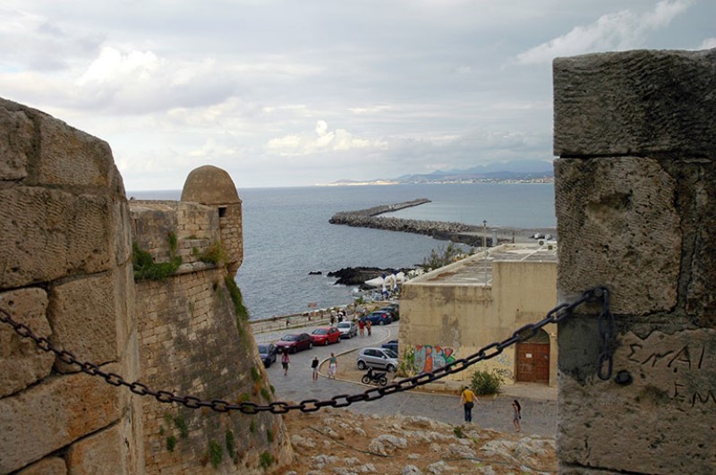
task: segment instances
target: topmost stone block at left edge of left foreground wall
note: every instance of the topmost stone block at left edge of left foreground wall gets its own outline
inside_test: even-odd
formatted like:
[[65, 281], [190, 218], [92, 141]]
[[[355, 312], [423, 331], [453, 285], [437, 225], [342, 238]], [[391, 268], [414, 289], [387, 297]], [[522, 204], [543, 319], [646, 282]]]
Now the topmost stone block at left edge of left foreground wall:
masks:
[[21, 180], [28, 174], [35, 127], [24, 112], [5, 105], [0, 100], [0, 180]]

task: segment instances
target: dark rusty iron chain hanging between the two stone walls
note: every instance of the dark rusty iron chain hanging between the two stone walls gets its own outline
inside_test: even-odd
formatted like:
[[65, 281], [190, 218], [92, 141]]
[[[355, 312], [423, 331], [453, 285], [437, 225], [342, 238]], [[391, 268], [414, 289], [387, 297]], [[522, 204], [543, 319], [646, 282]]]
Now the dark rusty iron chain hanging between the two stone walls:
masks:
[[516, 329], [516, 331], [507, 339], [502, 340], [501, 342], [494, 342], [492, 344], [488, 344], [487, 346], [483, 346], [478, 352], [475, 352], [472, 355], [462, 358], [460, 360], [454, 360], [447, 365], [440, 367], [439, 369], [431, 371], [430, 373], [421, 373], [417, 376], [408, 377], [397, 381], [396, 383], [392, 383], [388, 386], [373, 387], [363, 393], [337, 394], [326, 401], [319, 401], [318, 399], [306, 399], [300, 403], [286, 403], [282, 401], [277, 401], [274, 403], [268, 403], [263, 405], [251, 402], [234, 404], [218, 399], [215, 399], [213, 401], [202, 401], [200, 400], [200, 398], [192, 395], [181, 396], [169, 391], [151, 389], [149, 388], [149, 386], [139, 381], [134, 381], [130, 383], [124, 380], [124, 377], [121, 377], [116, 373], [106, 372], [102, 369], [99, 369], [98, 365], [94, 363], [78, 360], [77, 357], [72, 354], [72, 352], [57, 349], [55, 345], [53, 345], [52, 343], [50, 343], [49, 340], [47, 340], [47, 338], [45, 338], [44, 336], [35, 335], [34, 333], [32, 333], [30, 327], [27, 327], [26, 325], [15, 321], [10, 316], [10, 314], [3, 309], [0, 309], [0, 322], [6, 323], [13, 327], [17, 335], [33, 340], [40, 350], [44, 352], [55, 353], [56, 357], [64, 363], [76, 365], [80, 368], [82, 372], [87, 373], [90, 376], [103, 377], [109, 385], [125, 386], [130, 391], [132, 391], [132, 393], [139, 394], [141, 396], [150, 395], [154, 397], [159, 403], [180, 403], [190, 409], [200, 409], [206, 407], [212, 411], [217, 412], [240, 411], [244, 414], [258, 414], [259, 412], [268, 411], [274, 414], [284, 414], [288, 411], [294, 410], [303, 412], [319, 411], [321, 408], [328, 406], [334, 408], [346, 407], [353, 403], [375, 401], [376, 399], [380, 399], [388, 394], [402, 393], [404, 391], [414, 389], [415, 387], [426, 385], [437, 379], [446, 377], [447, 375], [464, 371], [465, 369], [468, 369], [469, 367], [473, 366], [473, 364], [479, 361], [490, 360], [498, 356], [508, 346], [519, 342], [524, 342], [532, 336], [537, 335], [537, 332], [542, 327], [545, 327], [550, 323], [558, 323], [559, 321], [569, 317], [573, 314], [574, 310], [580, 305], [582, 305], [584, 302], [594, 301], [598, 299], [601, 299], [602, 301], [601, 314], [599, 317], [602, 347], [598, 361], [598, 375], [599, 377], [601, 377], [601, 379], [605, 379], [605, 377], [602, 377], [605, 376], [605, 373], [602, 373], [601, 369], [603, 363], [608, 362], [609, 369], [608, 376], [606, 377], [606, 379], [609, 379], [609, 377], [611, 377], [612, 369], [612, 355], [610, 349], [611, 338], [614, 335], [614, 317], [609, 311], [609, 290], [606, 287], [594, 287], [592, 289], [584, 291], [584, 293], [582, 293], [582, 295], [577, 300], [571, 303], [562, 303], [554, 309], [550, 310], [547, 313], [547, 316], [545, 318], [542, 318], [540, 321], [536, 323], [527, 324], [524, 325], [524, 327]]

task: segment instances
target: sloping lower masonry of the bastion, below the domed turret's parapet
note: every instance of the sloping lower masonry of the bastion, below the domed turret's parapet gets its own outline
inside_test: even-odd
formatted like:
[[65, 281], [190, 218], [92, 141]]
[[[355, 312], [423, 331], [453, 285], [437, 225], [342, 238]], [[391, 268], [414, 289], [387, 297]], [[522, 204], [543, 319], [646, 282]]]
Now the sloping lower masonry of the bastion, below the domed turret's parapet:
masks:
[[[251, 329], [236, 321], [225, 277], [226, 269], [213, 268], [175, 276], [166, 284], [137, 284], [141, 379], [202, 400], [269, 403], [268, 377]], [[143, 410], [149, 473], [214, 473], [212, 444], [223, 450], [218, 463], [223, 473], [260, 472], [260, 454], [279, 461], [291, 454], [280, 416], [194, 411], [154, 399], [145, 399]]]

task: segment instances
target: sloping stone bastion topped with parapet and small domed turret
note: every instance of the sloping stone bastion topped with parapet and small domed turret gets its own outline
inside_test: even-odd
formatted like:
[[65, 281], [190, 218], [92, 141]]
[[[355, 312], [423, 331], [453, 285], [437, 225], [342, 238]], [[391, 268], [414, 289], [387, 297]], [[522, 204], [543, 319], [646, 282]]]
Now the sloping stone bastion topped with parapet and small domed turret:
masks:
[[[234, 182], [223, 170], [202, 166], [187, 178], [182, 198], [192, 201], [130, 201], [134, 242], [158, 262], [182, 258], [166, 282], [135, 286], [141, 380], [204, 401], [269, 403], [273, 395], [251, 329], [236, 315], [226, 284], [243, 260]], [[226, 266], [202, 261], [217, 243]], [[278, 416], [195, 411], [149, 398], [142, 403], [149, 473], [214, 473], [211, 457], [219, 449], [217, 468], [225, 473], [262, 472], [261, 454], [277, 461], [291, 456]]]

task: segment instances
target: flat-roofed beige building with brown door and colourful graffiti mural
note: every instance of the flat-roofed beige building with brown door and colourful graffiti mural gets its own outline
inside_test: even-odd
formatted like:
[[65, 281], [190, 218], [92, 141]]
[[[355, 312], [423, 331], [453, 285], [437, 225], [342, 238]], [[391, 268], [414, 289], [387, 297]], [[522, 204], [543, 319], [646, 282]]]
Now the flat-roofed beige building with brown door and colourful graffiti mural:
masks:
[[[400, 347], [415, 348], [419, 369], [437, 369], [541, 320], [557, 302], [556, 243], [504, 244], [405, 283]], [[499, 369], [506, 384], [557, 386], [557, 326], [446, 382], [466, 382], [475, 369]]]

